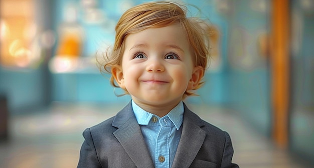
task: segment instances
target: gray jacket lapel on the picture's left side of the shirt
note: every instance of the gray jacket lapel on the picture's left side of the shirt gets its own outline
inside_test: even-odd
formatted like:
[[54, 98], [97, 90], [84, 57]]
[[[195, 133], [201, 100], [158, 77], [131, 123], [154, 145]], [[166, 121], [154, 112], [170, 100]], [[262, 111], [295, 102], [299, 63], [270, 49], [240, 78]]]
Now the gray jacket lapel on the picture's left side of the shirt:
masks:
[[117, 113], [112, 126], [118, 127], [113, 134], [135, 165], [137, 167], [153, 167], [152, 159], [134, 116], [131, 103]]

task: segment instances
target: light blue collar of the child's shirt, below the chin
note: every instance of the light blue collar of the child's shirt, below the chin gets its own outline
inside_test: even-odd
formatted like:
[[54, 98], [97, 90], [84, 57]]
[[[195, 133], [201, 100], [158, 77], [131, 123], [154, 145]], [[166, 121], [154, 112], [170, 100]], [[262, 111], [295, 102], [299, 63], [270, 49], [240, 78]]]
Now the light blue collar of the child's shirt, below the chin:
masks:
[[167, 115], [163, 117], [159, 117], [154, 115], [150, 112], [145, 111], [141, 107], [139, 107], [133, 100], [132, 100], [132, 108], [136, 117], [138, 124], [140, 125], [148, 125], [149, 121], [151, 120], [152, 116], [158, 117], [158, 119], [163, 119], [164, 117], [169, 117], [170, 120], [174, 123], [177, 130], [180, 129], [180, 126], [183, 122], [183, 113], [184, 113], [184, 106], [183, 102], [180, 101], [177, 106], [175, 106]]

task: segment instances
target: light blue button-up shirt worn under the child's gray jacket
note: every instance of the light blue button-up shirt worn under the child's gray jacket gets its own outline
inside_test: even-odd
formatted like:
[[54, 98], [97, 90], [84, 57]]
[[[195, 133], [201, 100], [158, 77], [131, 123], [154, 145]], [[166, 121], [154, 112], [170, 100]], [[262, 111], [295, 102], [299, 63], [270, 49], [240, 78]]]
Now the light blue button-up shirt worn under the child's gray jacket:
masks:
[[133, 100], [132, 108], [154, 166], [171, 167], [181, 138], [183, 102], [163, 117], [143, 110]]

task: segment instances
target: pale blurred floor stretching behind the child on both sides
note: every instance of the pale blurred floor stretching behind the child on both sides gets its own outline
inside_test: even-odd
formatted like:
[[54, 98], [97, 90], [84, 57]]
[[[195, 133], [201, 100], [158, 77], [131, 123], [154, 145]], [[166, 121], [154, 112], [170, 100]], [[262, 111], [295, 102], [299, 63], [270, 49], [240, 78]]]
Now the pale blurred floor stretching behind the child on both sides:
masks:
[[[121, 104], [54, 102], [29, 115], [11, 116], [10, 138], [0, 142], [0, 167], [76, 167], [83, 142], [82, 131], [113, 116], [121, 108]], [[191, 108], [203, 119], [229, 132], [235, 150], [233, 162], [240, 167], [310, 167], [304, 160], [274, 146], [230, 109]]]

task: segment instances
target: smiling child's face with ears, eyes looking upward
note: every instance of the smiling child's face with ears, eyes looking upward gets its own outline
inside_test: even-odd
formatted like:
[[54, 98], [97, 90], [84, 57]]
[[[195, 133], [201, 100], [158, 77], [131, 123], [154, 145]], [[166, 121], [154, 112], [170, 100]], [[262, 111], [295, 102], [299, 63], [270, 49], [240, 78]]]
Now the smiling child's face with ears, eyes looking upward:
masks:
[[[190, 45], [180, 24], [147, 28], [125, 39], [113, 76], [137, 104], [175, 105], [196, 82]], [[198, 79], [197, 79], [198, 80]]]

